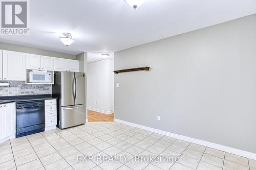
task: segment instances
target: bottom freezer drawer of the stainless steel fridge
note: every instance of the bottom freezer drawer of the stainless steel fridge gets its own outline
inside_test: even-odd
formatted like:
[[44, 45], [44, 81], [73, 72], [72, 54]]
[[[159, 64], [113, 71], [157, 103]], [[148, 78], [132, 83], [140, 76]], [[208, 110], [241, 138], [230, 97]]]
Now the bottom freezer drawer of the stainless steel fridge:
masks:
[[60, 108], [60, 129], [69, 128], [86, 123], [86, 105], [66, 106]]

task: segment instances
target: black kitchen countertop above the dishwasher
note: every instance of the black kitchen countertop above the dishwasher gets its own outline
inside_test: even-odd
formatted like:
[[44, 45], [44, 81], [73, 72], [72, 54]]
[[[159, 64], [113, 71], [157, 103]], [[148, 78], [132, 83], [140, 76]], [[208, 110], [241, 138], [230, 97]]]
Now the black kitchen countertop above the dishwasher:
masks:
[[52, 97], [51, 94], [0, 96], [0, 104], [50, 99], [58, 98]]

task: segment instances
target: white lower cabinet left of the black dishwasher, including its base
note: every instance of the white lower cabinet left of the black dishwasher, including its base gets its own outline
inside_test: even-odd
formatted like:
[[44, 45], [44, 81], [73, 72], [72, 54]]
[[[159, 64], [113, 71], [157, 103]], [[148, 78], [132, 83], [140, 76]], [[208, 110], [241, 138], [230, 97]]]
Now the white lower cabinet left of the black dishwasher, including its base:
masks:
[[15, 103], [0, 105], [0, 143], [15, 138], [16, 127]]

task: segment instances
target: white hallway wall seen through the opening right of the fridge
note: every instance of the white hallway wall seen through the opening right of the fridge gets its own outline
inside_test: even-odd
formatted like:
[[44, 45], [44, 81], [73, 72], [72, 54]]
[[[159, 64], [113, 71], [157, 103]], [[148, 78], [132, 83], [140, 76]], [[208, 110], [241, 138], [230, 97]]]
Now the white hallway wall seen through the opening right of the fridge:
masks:
[[106, 114], [114, 112], [113, 79], [113, 58], [88, 63], [88, 109]]

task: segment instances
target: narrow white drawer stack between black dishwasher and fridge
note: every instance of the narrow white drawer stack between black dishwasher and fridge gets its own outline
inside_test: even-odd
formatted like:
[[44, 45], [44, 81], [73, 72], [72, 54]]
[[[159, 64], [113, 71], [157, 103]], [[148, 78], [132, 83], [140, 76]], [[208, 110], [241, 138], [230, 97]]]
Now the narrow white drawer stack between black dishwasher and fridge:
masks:
[[45, 100], [45, 131], [56, 129], [57, 125], [57, 105], [56, 99]]

